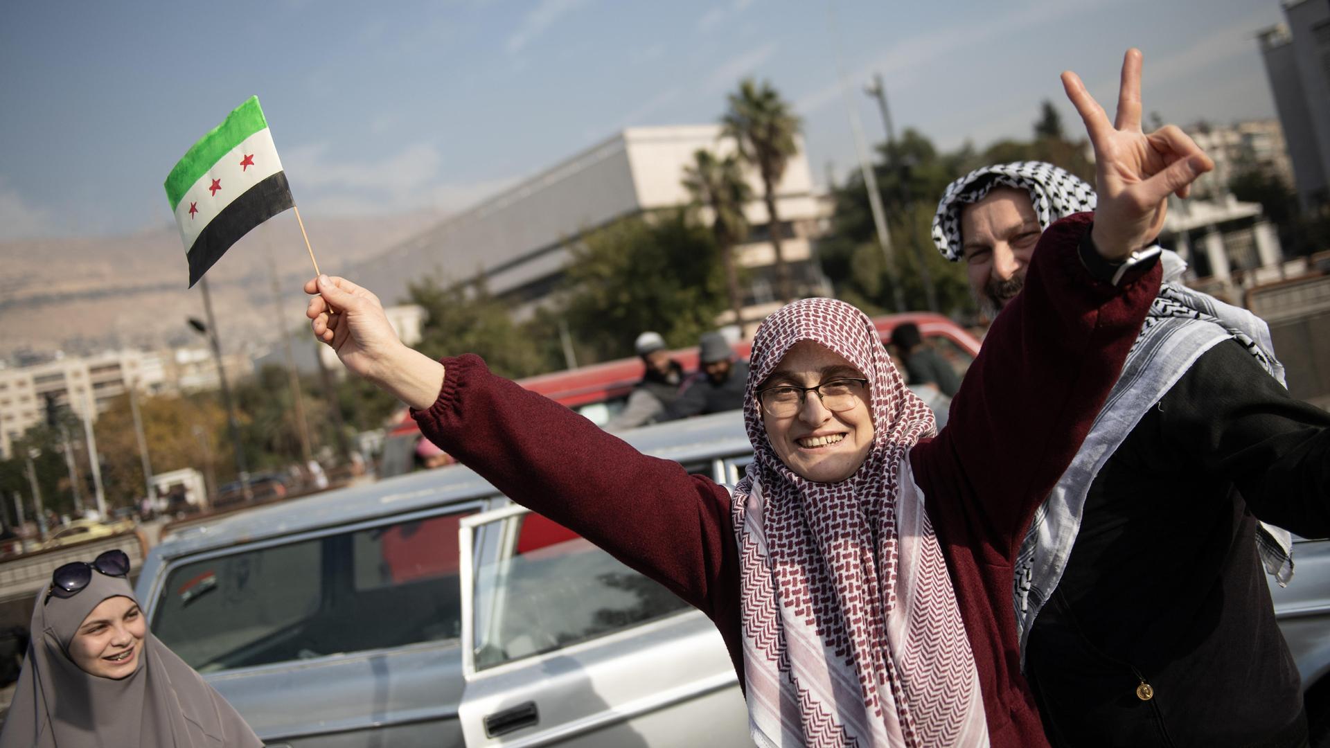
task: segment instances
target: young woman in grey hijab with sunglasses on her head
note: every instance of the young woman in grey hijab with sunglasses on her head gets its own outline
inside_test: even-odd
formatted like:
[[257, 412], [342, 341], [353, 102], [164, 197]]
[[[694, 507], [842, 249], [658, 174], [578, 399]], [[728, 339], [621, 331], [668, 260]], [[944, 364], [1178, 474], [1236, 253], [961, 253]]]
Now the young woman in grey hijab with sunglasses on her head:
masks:
[[[37, 598], [0, 748], [262, 747], [239, 713], [148, 631], [108, 551]], [[70, 587], [77, 587], [70, 590]]]

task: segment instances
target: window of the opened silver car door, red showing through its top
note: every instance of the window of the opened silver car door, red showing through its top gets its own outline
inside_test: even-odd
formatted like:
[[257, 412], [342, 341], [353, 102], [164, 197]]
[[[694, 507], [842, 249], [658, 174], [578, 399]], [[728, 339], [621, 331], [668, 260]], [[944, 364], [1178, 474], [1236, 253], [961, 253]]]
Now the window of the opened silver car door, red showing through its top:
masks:
[[657, 620], [688, 607], [560, 524], [527, 514], [513, 551], [475, 578], [475, 663], [491, 668]]

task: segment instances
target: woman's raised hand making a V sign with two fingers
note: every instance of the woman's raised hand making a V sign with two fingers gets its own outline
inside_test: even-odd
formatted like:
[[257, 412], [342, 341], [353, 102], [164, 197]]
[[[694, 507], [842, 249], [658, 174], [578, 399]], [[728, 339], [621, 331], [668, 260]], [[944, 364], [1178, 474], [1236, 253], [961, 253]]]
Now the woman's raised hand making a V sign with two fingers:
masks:
[[1192, 182], [1214, 162], [1176, 125], [1141, 130], [1140, 49], [1128, 49], [1123, 59], [1115, 122], [1076, 73], [1063, 73], [1063, 88], [1095, 148], [1095, 246], [1104, 257], [1120, 260], [1158, 237], [1168, 196], [1186, 197]]

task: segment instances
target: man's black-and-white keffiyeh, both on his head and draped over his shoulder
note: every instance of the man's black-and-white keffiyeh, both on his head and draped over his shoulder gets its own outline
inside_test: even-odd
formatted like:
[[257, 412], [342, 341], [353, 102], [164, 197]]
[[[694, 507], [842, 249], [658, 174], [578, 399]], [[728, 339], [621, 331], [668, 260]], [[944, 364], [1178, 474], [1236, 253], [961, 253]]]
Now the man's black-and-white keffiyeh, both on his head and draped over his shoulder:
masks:
[[[951, 182], [938, 204], [932, 238], [943, 257], [952, 262], [960, 260], [960, 212], [966, 205], [983, 200], [995, 186], [1027, 190], [1043, 229], [1073, 213], [1093, 210], [1096, 205], [1093, 188], [1052, 164], [1021, 161], [975, 169]], [[1089, 486], [1141, 417], [1201, 354], [1228, 339], [1242, 343], [1270, 377], [1285, 383], [1283, 366], [1274, 357], [1265, 321], [1186, 287], [1182, 283], [1186, 262], [1177, 254], [1164, 252], [1161, 262], [1164, 282], [1150, 303], [1140, 335], [1132, 343], [1123, 373], [1080, 451], [1035, 512], [1016, 556], [1012, 602], [1023, 667], [1035, 618], [1057, 587], [1071, 558]], [[1262, 522], [1257, 528], [1257, 547], [1265, 570], [1281, 587], [1287, 584], [1293, 576], [1289, 532]]]

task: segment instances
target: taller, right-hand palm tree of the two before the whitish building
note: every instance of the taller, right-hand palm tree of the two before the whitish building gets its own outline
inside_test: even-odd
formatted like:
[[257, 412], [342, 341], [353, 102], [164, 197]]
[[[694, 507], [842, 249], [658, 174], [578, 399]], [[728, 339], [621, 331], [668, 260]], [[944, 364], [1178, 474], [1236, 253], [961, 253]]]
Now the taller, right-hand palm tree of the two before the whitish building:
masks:
[[739, 148], [739, 156], [753, 165], [762, 177], [762, 200], [766, 202], [767, 228], [771, 234], [771, 249], [775, 250], [775, 277], [781, 299], [789, 302], [794, 297], [790, 283], [790, 270], [781, 253], [781, 217], [775, 210], [775, 185], [785, 174], [785, 165], [798, 150], [794, 138], [802, 124], [790, 110], [790, 104], [781, 98], [766, 81], [758, 85], [753, 79], [743, 79], [739, 89], [729, 96], [729, 110], [721, 117], [725, 134], [733, 137]]

